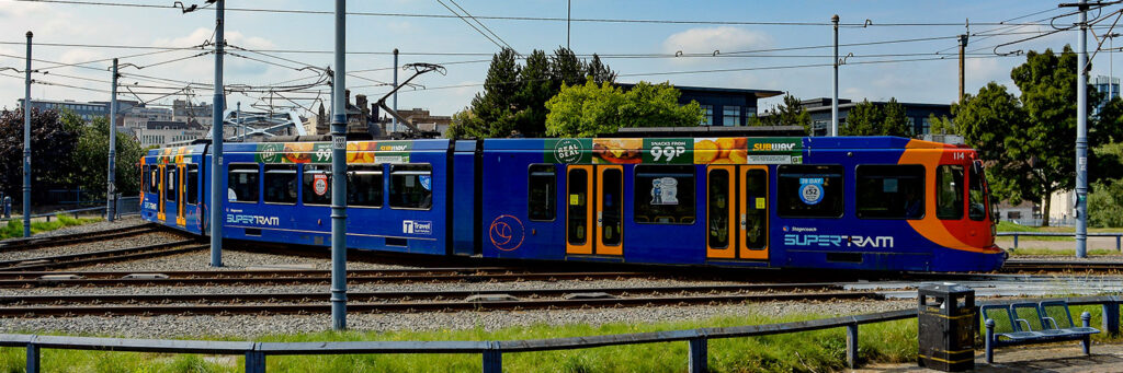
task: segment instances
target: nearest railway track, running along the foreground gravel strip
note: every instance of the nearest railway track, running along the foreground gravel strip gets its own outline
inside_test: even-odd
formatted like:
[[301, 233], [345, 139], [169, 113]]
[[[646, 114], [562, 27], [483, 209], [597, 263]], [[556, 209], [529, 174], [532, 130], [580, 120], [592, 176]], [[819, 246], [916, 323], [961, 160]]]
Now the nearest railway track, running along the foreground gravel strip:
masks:
[[[355, 292], [348, 293], [350, 313], [421, 313], [457, 310], [526, 310], [564, 308], [612, 308], [649, 306], [697, 306], [780, 300], [838, 300], [883, 299], [870, 291], [823, 291], [824, 285], [811, 288], [789, 287], [789, 292], [743, 293], [783, 289], [776, 286], [721, 287], [659, 287], [623, 289], [568, 289], [568, 290], [497, 290], [497, 291], [411, 291], [411, 292]], [[678, 295], [673, 295], [678, 293]], [[639, 296], [637, 296], [639, 295]], [[477, 296], [476, 298], [467, 298]], [[161, 298], [163, 297], [163, 298]], [[51, 299], [54, 298], [54, 299]], [[465, 298], [462, 300], [446, 300]], [[429, 299], [429, 301], [419, 301]], [[143, 305], [93, 305], [93, 301], [140, 301]], [[166, 304], [150, 304], [154, 300]], [[258, 304], [221, 304], [257, 301]], [[276, 302], [287, 304], [276, 304]], [[44, 316], [119, 316], [119, 315], [292, 315], [323, 314], [331, 309], [327, 293], [279, 295], [180, 295], [180, 296], [70, 296], [66, 297], [11, 297], [3, 300], [19, 307], [0, 307], [0, 317]], [[72, 302], [57, 305], [60, 302]], [[206, 304], [188, 304], [206, 302]], [[272, 304], [270, 304], [272, 302]], [[30, 307], [33, 304], [52, 306]], [[85, 305], [83, 305], [85, 304]]]

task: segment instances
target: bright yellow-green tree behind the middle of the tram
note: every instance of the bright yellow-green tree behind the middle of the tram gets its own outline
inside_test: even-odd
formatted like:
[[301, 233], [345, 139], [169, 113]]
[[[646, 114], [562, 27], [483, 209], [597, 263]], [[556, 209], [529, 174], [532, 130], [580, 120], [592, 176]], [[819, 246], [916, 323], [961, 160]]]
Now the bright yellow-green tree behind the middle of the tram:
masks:
[[702, 121], [697, 102], [678, 105], [681, 92], [669, 83], [640, 82], [624, 92], [592, 80], [584, 85], [563, 85], [546, 102], [546, 134], [588, 138], [612, 133], [623, 127], [686, 127]]

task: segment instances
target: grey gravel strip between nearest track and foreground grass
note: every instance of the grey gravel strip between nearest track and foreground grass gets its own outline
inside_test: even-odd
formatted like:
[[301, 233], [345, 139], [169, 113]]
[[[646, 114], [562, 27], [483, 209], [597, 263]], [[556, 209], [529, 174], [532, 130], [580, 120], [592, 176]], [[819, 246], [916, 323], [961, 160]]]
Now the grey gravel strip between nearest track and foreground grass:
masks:
[[[427, 314], [350, 314], [351, 330], [496, 330], [535, 325], [591, 325], [617, 323], [660, 323], [706, 320], [714, 317], [750, 317], [765, 315], [841, 316], [916, 307], [913, 300], [893, 301], [816, 301], [760, 302], [697, 307], [640, 307], [573, 310], [462, 311]], [[65, 333], [110, 335], [129, 338], [200, 338], [232, 337], [252, 339], [264, 335], [318, 333], [331, 329], [330, 315], [294, 316], [122, 316], [122, 317], [48, 317], [3, 319], [0, 333]]]

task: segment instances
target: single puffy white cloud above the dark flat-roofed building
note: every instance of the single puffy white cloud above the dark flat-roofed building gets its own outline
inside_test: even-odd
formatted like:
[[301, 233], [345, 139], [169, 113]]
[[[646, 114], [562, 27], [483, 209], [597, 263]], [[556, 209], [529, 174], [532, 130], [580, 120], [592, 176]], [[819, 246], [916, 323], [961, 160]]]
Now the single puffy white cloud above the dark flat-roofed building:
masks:
[[773, 38], [768, 34], [738, 27], [692, 28], [667, 37], [663, 41], [663, 50], [668, 54], [679, 50], [683, 53], [713, 53], [714, 50], [731, 53], [767, 48], [772, 43]]

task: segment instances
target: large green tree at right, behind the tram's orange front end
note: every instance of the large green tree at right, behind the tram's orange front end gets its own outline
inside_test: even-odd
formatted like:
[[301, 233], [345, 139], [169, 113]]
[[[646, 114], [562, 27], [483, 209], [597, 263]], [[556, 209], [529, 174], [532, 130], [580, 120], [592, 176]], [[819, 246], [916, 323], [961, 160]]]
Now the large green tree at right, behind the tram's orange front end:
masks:
[[[1021, 96], [1015, 100], [1006, 87], [992, 82], [956, 108], [958, 131], [990, 164], [995, 195], [1013, 204], [1040, 202], [1046, 216], [1049, 196], [1076, 183], [1076, 57], [1068, 46], [1060, 55], [1051, 49], [1030, 52], [1025, 63], [1010, 74]], [[1101, 100], [1089, 87], [1089, 112]], [[1117, 109], [1108, 115], [1117, 115]], [[1106, 116], [1101, 123], [1115, 120]], [[1110, 142], [1113, 132], [1117, 129], [1089, 131], [1089, 142]]]

